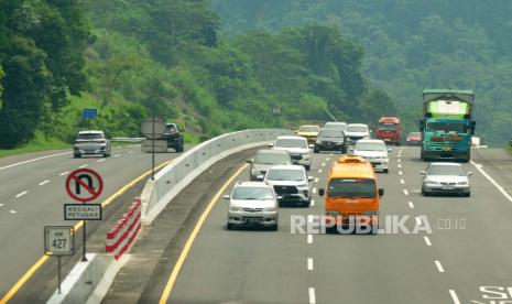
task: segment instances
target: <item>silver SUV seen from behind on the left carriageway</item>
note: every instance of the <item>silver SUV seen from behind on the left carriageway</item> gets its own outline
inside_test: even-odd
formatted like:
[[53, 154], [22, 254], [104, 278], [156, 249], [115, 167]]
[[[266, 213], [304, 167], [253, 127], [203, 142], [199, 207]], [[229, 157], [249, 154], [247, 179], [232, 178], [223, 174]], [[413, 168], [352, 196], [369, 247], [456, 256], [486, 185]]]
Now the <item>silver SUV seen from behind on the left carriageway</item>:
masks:
[[110, 141], [104, 131], [79, 131], [73, 144], [73, 156], [75, 159], [88, 154], [101, 154], [105, 158], [110, 156]]

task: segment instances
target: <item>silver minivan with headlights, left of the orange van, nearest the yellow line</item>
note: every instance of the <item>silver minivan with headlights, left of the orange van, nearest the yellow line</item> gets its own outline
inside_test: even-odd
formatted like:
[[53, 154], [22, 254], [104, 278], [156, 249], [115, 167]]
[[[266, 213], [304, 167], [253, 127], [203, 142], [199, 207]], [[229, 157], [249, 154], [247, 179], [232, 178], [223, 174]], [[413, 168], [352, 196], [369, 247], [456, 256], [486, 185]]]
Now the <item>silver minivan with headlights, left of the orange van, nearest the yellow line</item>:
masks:
[[277, 230], [279, 205], [277, 197], [268, 183], [238, 182], [229, 199], [228, 230], [237, 226], [257, 226]]

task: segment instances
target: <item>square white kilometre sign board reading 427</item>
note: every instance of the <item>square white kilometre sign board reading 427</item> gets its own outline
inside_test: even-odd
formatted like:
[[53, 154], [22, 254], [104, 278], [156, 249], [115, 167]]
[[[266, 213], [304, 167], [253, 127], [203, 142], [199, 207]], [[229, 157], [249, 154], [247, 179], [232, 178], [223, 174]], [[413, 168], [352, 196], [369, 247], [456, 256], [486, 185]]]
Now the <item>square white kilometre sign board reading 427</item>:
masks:
[[73, 226], [44, 227], [44, 254], [72, 256], [75, 252]]

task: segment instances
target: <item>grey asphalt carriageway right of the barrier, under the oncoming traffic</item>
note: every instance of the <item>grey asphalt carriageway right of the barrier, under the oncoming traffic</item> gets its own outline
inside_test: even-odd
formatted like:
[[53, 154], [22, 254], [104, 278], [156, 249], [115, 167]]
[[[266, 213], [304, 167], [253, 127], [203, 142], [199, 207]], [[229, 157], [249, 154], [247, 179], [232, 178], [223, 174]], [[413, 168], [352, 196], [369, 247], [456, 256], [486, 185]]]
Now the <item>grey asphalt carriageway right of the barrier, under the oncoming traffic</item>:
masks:
[[[400, 229], [393, 234], [389, 228], [379, 235], [292, 234], [293, 216], [315, 221], [312, 216], [324, 213], [323, 199], [316, 194], [309, 208], [281, 208], [276, 232], [228, 231], [227, 204], [219, 195], [229, 193], [233, 182], [248, 180], [247, 166], [239, 162], [236, 167], [241, 170], [219, 177], [231, 181], [210, 205], [214, 194], [204, 197], [200, 210], [211, 210], [204, 221], [194, 221], [199, 225], [187, 232], [185, 249], [161, 250], [161, 262], [139, 301], [512, 303], [512, 198], [506, 188], [512, 182], [512, 159], [501, 150], [473, 151], [472, 162], [465, 164], [473, 172], [471, 197], [423, 197], [420, 171], [426, 163], [418, 160], [418, 154], [417, 148], [394, 148], [390, 173], [378, 174], [385, 191], [381, 228], [390, 227], [392, 217], [405, 218], [411, 231], [424, 228], [408, 234]], [[325, 187], [326, 172], [338, 156], [314, 155], [309, 174], [318, 177], [316, 192]], [[194, 191], [205, 188], [188, 192]], [[153, 234], [161, 230], [157, 225], [168, 221], [166, 216], [164, 213], [155, 220]], [[426, 227], [432, 232], [425, 231]], [[144, 237], [151, 239], [151, 234]], [[127, 267], [137, 269], [142, 263], [144, 260], [133, 259]], [[118, 282], [111, 292], [120, 289]], [[131, 296], [126, 303], [137, 302], [138, 297]], [[123, 302], [120, 298], [108, 295], [105, 303]]]

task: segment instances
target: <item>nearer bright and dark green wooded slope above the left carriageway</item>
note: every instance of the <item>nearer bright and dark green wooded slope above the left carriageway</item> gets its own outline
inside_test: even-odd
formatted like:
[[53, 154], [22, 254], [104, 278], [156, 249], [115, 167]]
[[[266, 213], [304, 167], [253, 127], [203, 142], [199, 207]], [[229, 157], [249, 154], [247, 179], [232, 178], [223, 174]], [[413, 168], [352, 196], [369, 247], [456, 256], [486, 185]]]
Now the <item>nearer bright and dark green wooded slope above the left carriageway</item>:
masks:
[[[241, 12], [242, 13], [242, 12]], [[139, 135], [152, 112], [188, 140], [221, 132], [395, 113], [362, 75], [363, 48], [338, 25], [232, 35], [207, 0], [2, 0], [0, 148], [69, 141], [87, 128]]]

